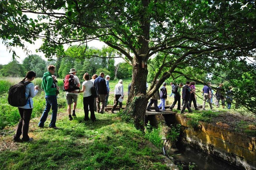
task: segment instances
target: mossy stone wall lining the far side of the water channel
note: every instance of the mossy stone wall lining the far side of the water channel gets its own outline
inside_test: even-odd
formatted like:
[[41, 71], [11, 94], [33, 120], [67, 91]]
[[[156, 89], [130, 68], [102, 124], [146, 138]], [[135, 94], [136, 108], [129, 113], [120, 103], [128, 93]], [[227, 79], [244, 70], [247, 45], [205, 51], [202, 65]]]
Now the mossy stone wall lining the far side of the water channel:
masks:
[[204, 122], [199, 128], [188, 127], [189, 118], [174, 116], [175, 123], [182, 125], [182, 140], [237, 167], [256, 169], [255, 137], [235, 133]]

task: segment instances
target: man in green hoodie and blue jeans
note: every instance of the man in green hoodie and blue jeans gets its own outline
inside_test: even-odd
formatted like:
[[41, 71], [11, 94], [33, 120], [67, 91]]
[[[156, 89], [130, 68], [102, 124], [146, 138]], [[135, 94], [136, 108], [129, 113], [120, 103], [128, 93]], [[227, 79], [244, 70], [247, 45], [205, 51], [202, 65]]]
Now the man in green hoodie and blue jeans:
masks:
[[58, 127], [55, 125], [58, 111], [56, 91], [59, 90], [59, 87], [54, 87], [53, 85], [52, 75], [55, 73], [55, 66], [49, 65], [47, 69], [48, 71], [44, 73], [42, 79], [42, 89], [45, 91], [46, 106], [38, 123], [38, 127], [44, 127], [44, 122], [52, 108], [52, 118], [49, 127], [57, 129]]

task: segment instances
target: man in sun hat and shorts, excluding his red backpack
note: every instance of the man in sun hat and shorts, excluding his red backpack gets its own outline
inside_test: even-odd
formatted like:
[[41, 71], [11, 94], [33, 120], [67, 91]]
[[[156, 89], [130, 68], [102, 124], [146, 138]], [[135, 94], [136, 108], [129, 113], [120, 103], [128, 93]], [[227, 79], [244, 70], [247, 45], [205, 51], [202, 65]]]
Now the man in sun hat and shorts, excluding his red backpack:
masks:
[[[75, 85], [76, 87], [80, 87], [80, 81], [79, 78], [76, 76], [77, 71], [75, 71], [74, 68], [70, 69], [69, 74], [74, 76], [74, 81], [75, 81]], [[78, 97], [78, 93], [79, 90], [75, 90], [73, 92], [66, 92], [66, 100], [67, 100], [67, 104], [68, 104], [68, 114], [69, 114], [69, 120], [73, 120], [72, 116], [76, 116], [75, 115], [75, 108], [77, 105], [77, 97]], [[72, 111], [72, 116], [71, 116], [71, 105], [73, 103], [73, 111]]]

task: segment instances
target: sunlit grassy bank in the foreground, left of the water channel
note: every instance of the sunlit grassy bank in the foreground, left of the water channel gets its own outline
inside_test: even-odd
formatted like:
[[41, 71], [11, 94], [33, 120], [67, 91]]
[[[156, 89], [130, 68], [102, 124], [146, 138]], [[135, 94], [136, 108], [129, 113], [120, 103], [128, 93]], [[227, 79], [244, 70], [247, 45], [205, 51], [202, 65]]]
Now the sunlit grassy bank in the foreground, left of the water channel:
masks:
[[[116, 114], [97, 114], [97, 121], [83, 121], [83, 111], [69, 121], [57, 116], [58, 130], [39, 128], [31, 120], [31, 143], [13, 143], [15, 127], [0, 136], [0, 169], [167, 169], [159, 150], [133, 124]], [[49, 125], [50, 116], [45, 124]]]

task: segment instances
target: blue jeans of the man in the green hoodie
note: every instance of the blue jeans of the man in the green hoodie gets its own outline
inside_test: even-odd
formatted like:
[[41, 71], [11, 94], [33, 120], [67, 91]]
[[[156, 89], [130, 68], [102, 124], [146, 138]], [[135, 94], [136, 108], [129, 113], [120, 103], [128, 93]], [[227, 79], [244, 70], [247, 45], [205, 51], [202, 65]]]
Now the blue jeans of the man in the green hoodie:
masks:
[[56, 127], [55, 123], [56, 123], [57, 111], [58, 111], [57, 97], [56, 95], [46, 95], [45, 100], [46, 100], [46, 106], [40, 118], [40, 121], [38, 123], [38, 126], [39, 127], [44, 126], [44, 122], [46, 121], [48, 113], [52, 107], [52, 118], [51, 118], [51, 123], [49, 127]]

